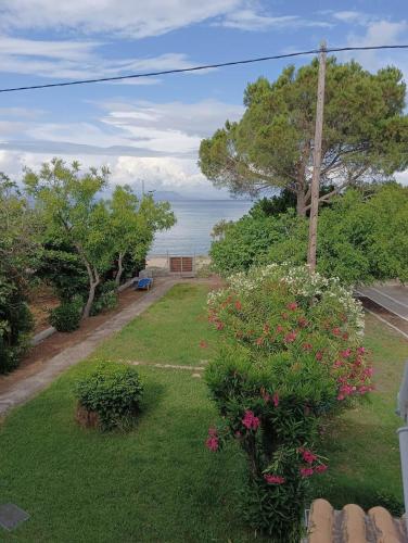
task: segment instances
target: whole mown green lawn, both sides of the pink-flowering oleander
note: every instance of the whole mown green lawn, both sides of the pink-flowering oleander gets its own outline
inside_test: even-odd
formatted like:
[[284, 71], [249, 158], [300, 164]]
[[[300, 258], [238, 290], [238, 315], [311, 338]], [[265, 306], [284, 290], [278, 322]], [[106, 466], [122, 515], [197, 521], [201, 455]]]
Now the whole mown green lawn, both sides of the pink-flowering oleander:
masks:
[[[208, 358], [215, 336], [203, 313], [206, 293], [203, 285], [174, 288], [98, 355], [173, 364]], [[200, 349], [202, 339], [208, 349]], [[379, 390], [328, 435], [330, 471], [316, 489], [336, 505], [372, 505], [375, 491], [400, 496], [400, 421], [393, 412], [408, 343], [372, 317], [367, 343]], [[253, 541], [237, 510], [243, 458], [233, 446], [217, 455], [203, 445], [216, 420], [205, 383], [192, 371], [140, 366], [145, 397], [137, 428], [101, 434], [74, 421], [73, 383], [93, 364], [68, 370], [1, 426], [0, 503], [16, 503], [31, 519], [11, 533], [0, 529], [0, 541]]]

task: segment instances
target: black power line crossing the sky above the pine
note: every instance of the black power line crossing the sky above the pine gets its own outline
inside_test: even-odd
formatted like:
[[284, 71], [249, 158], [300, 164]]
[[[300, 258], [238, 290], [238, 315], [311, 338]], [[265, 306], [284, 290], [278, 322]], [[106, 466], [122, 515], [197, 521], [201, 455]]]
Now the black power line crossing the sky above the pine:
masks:
[[[367, 47], [337, 47], [326, 49], [328, 53], [341, 52], [341, 51], [373, 51], [378, 49], [408, 49], [408, 46], [367, 46]], [[146, 72], [142, 74], [130, 74], [130, 75], [119, 75], [115, 77], [98, 77], [94, 79], [77, 79], [74, 81], [60, 81], [60, 83], [48, 83], [44, 85], [30, 85], [26, 87], [14, 87], [0, 89], [0, 92], [17, 92], [20, 90], [35, 90], [35, 89], [49, 89], [52, 87], [68, 87], [71, 85], [88, 85], [91, 83], [104, 83], [104, 81], [119, 81], [124, 79], [137, 79], [140, 77], [154, 77], [158, 75], [169, 75], [169, 74], [183, 74], [186, 72], [199, 72], [202, 70], [218, 68], [225, 66], [237, 66], [239, 64], [252, 64], [255, 62], [275, 61], [278, 59], [291, 59], [293, 56], [302, 56], [305, 54], [318, 54], [320, 49], [310, 49], [309, 51], [298, 51], [295, 53], [285, 54], [275, 54], [270, 56], [258, 56], [255, 59], [245, 59], [241, 61], [231, 62], [219, 62], [216, 64], [204, 64], [200, 66], [192, 66], [188, 68], [175, 68], [175, 70], [163, 70], [161, 72]]]

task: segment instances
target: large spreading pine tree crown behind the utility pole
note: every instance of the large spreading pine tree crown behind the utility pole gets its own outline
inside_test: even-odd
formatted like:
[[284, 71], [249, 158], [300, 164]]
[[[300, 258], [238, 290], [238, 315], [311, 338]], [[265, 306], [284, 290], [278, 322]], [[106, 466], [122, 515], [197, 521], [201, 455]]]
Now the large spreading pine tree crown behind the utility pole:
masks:
[[[245, 113], [226, 122], [200, 147], [200, 167], [235, 194], [286, 189], [298, 215], [310, 206], [318, 61], [260, 77], [244, 93]], [[320, 195], [328, 202], [348, 186], [383, 179], [408, 166], [406, 86], [395, 67], [370, 74], [356, 62], [328, 59]]]

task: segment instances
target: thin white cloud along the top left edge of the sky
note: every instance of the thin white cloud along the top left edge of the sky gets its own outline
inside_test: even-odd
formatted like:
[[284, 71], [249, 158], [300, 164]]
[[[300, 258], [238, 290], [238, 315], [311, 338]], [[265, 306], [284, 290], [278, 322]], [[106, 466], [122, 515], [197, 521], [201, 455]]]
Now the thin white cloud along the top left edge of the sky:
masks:
[[0, 16], [3, 28], [71, 28], [143, 38], [227, 14], [241, 4], [242, 0], [2, 0]]

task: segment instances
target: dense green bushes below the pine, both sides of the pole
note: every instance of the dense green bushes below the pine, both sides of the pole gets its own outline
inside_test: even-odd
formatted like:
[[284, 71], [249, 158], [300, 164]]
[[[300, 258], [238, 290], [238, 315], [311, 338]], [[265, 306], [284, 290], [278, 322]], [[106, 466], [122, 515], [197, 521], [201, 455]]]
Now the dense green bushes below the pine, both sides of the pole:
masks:
[[[407, 239], [406, 187], [388, 182], [369, 194], [347, 189], [320, 211], [317, 269], [347, 285], [407, 281]], [[293, 210], [279, 216], [264, 216], [257, 210], [213, 242], [211, 255], [217, 272], [228, 276], [259, 263], [305, 263], [307, 241], [307, 220]]]

